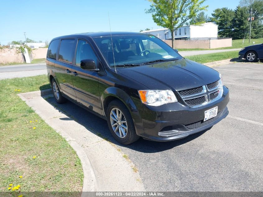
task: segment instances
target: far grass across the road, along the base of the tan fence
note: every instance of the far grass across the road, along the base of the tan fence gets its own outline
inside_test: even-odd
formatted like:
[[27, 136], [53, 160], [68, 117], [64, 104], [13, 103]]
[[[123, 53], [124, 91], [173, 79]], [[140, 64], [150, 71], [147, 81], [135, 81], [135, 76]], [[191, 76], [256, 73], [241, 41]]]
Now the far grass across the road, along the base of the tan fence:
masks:
[[255, 45], [263, 43], [263, 38], [258, 39], [251, 39], [250, 43], [248, 43], [249, 39], [245, 39], [243, 44], [243, 39], [240, 40], [232, 40], [232, 46], [230, 47], [223, 47], [223, 48], [216, 48], [216, 49], [178, 49], [179, 51], [199, 51], [199, 50], [217, 50], [217, 49], [241, 49], [246, 46]]

